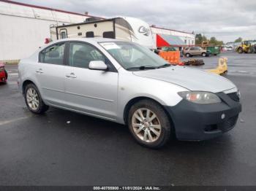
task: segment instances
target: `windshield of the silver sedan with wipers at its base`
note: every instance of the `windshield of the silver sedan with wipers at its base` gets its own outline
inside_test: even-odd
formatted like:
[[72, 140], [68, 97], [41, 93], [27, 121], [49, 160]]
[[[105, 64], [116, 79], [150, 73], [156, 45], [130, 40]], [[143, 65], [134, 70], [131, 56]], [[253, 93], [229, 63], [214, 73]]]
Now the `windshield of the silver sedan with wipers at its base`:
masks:
[[158, 69], [170, 66], [146, 47], [132, 42], [100, 42], [113, 58], [127, 70]]

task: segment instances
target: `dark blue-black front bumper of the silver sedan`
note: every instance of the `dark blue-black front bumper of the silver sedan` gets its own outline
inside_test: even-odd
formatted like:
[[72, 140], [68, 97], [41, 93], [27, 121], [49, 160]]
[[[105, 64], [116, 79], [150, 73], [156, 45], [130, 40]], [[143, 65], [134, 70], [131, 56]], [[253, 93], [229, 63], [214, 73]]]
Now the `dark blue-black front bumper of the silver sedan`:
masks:
[[165, 106], [173, 120], [179, 140], [212, 139], [231, 130], [241, 112], [241, 104], [225, 93], [217, 93], [219, 104], [194, 104], [182, 100], [176, 106]]

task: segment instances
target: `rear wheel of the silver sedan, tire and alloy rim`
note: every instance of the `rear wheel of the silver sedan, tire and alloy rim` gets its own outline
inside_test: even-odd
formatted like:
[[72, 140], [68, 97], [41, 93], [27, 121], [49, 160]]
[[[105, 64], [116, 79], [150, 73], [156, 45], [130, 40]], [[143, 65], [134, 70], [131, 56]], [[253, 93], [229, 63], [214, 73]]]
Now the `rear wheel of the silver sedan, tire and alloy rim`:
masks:
[[42, 101], [39, 90], [34, 84], [26, 85], [24, 97], [26, 106], [34, 114], [42, 114], [49, 109], [49, 106]]

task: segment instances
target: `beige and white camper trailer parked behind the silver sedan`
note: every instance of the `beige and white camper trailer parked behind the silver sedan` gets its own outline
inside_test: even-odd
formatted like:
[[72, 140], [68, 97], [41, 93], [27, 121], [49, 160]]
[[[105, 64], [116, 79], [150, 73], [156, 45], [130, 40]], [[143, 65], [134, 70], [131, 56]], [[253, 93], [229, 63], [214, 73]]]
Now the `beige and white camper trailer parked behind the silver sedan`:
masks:
[[134, 17], [115, 17], [71, 25], [53, 26], [50, 27], [50, 37], [52, 40], [103, 37], [136, 42], [151, 50], [157, 48], [148, 23]]

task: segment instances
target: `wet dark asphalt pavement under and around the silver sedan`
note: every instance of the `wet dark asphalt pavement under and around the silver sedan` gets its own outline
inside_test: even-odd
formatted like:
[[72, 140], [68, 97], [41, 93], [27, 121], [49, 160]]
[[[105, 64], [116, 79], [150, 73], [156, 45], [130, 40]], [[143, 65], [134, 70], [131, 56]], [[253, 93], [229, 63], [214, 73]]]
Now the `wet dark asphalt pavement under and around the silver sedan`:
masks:
[[[220, 56], [228, 58], [225, 77], [241, 91], [236, 127], [217, 139], [170, 141], [159, 150], [141, 147], [114, 122], [54, 108], [31, 114], [18, 93], [17, 66], [7, 65], [0, 185], [256, 185], [256, 54]], [[203, 58], [201, 68], [213, 69], [220, 56]]]

